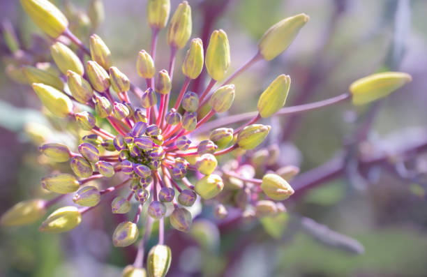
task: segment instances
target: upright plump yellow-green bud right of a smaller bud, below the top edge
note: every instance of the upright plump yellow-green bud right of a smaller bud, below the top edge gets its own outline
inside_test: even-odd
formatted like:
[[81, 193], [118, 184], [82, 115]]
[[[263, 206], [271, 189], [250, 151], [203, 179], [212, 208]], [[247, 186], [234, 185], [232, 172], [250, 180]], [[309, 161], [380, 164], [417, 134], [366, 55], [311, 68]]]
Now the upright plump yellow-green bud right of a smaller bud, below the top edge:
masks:
[[227, 33], [215, 30], [206, 51], [206, 69], [213, 80], [222, 80], [230, 66], [230, 45]]

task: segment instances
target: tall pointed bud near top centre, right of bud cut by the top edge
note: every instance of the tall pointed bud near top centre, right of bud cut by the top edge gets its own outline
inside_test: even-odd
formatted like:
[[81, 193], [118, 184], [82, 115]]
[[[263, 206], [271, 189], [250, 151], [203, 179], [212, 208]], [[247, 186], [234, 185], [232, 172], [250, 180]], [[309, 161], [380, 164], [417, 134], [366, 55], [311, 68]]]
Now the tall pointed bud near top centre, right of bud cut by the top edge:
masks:
[[183, 48], [191, 36], [192, 24], [191, 8], [187, 1], [183, 1], [178, 5], [170, 20], [167, 29], [167, 43], [171, 47]]

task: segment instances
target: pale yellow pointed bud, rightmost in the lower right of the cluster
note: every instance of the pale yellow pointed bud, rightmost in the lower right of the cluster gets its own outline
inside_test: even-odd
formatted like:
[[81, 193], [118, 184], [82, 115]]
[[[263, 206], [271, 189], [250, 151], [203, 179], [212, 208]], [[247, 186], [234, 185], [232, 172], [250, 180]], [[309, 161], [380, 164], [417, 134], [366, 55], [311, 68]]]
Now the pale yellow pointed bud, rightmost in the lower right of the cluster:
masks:
[[278, 174], [265, 174], [261, 189], [272, 200], [282, 201], [294, 194], [294, 189]]

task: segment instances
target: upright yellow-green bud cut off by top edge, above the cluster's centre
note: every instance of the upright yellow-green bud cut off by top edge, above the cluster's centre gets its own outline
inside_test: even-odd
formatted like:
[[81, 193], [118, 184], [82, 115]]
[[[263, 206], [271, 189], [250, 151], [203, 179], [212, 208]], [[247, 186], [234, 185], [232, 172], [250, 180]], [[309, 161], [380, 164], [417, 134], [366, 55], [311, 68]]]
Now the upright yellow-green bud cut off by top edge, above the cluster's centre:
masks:
[[147, 21], [153, 29], [166, 27], [170, 13], [170, 0], [148, 0]]

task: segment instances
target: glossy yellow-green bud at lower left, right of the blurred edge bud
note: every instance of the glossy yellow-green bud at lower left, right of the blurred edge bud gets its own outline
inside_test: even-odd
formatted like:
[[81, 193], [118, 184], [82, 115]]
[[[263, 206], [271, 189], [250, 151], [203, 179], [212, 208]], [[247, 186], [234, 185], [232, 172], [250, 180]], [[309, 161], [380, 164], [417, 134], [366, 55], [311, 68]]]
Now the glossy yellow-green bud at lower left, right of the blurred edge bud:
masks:
[[38, 230], [47, 233], [67, 232], [77, 227], [80, 222], [82, 222], [82, 214], [77, 207], [67, 206], [50, 214]]

